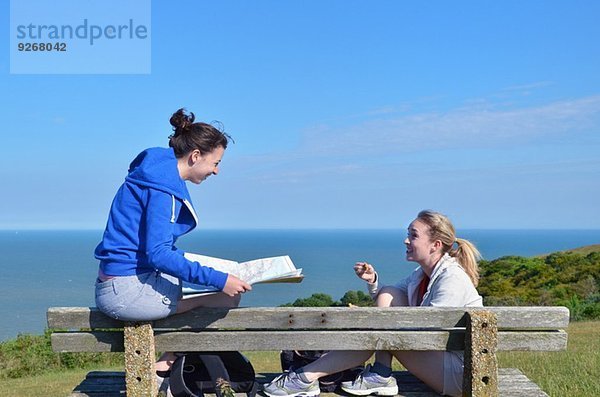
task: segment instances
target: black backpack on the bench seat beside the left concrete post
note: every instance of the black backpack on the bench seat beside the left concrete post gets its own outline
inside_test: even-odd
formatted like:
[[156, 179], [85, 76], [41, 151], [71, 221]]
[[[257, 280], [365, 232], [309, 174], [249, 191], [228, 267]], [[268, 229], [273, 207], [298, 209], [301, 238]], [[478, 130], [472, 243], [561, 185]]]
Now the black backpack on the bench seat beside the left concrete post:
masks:
[[171, 367], [169, 387], [174, 397], [222, 397], [218, 379], [229, 383], [236, 393], [254, 397], [258, 388], [252, 364], [240, 352], [185, 353]]

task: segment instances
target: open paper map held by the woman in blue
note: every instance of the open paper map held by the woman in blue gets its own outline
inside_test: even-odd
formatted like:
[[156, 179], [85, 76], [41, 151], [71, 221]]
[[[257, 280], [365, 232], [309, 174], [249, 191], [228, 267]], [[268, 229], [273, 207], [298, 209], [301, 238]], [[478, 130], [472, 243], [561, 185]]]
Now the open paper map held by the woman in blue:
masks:
[[[189, 252], [186, 252], [184, 256], [186, 259], [198, 262], [202, 266], [209, 266], [233, 274], [250, 285], [259, 283], [299, 283], [304, 278], [302, 269], [296, 269], [296, 266], [287, 255], [241, 263]], [[183, 282], [183, 299], [216, 292], [219, 291], [211, 286]]]

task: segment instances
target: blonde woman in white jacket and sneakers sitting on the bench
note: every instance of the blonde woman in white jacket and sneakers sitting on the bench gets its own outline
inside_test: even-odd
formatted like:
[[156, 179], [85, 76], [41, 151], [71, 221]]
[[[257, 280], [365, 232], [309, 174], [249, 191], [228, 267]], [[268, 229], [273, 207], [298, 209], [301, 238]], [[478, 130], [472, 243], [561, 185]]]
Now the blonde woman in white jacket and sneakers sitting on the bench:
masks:
[[[433, 211], [421, 211], [408, 227], [406, 259], [419, 267], [395, 286], [380, 287], [373, 266], [359, 262], [356, 275], [367, 282], [369, 292], [378, 307], [389, 306], [482, 306], [477, 293], [480, 254], [467, 240], [456, 238], [448, 218]], [[266, 385], [271, 397], [316, 396], [320, 393], [318, 379], [361, 363], [371, 351], [331, 351], [318, 360], [277, 377]], [[392, 357], [396, 357], [414, 376], [438, 393], [449, 396], [462, 394], [463, 354], [460, 351], [378, 351], [375, 363], [368, 365], [352, 382], [344, 382], [347, 393], [365, 396], [398, 394], [392, 376]]]

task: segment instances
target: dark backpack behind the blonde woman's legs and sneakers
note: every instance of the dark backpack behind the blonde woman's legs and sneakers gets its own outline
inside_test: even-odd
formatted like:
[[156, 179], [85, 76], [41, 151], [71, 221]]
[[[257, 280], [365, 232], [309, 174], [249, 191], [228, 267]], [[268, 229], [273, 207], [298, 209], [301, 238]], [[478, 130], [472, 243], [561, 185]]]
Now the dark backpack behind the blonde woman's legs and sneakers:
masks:
[[[327, 353], [327, 350], [283, 350], [279, 356], [281, 369], [283, 371], [293, 371], [312, 363], [325, 353]], [[323, 376], [319, 379], [319, 388], [322, 392], [333, 393], [342, 382], [356, 379], [363, 369], [364, 367], [360, 365]]]

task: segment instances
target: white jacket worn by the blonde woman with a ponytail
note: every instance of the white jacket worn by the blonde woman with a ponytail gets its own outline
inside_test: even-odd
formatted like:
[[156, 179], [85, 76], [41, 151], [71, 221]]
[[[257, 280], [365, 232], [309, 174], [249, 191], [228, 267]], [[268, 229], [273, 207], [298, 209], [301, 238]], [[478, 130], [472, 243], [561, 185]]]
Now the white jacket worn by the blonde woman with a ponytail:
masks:
[[[395, 285], [407, 295], [409, 306], [418, 306], [419, 284], [424, 276], [425, 272], [419, 266]], [[367, 284], [367, 288], [375, 297], [380, 290], [379, 276], [376, 276], [373, 284]], [[433, 269], [421, 306], [482, 307], [483, 300], [462, 266], [446, 253]]]

